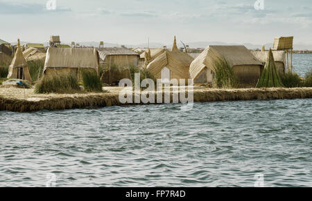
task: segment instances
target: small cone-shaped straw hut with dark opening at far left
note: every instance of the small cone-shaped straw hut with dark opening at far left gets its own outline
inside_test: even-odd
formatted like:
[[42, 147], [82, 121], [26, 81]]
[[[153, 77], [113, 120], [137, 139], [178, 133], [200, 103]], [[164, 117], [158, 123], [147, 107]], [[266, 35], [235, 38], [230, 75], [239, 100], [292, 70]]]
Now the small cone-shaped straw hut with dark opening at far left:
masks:
[[19, 40], [17, 43], [17, 51], [15, 52], [14, 58], [9, 66], [8, 79], [26, 79], [29, 82], [32, 82], [31, 74], [29, 73], [26, 59], [21, 51]]

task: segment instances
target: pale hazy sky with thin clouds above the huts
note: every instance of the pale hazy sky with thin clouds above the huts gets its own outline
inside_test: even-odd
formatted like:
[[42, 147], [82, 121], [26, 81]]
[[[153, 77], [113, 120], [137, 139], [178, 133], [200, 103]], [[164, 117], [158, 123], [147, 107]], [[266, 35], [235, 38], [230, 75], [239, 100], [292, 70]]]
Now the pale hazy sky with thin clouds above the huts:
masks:
[[[105, 41], [118, 44], [171, 44], [173, 35], [186, 42], [272, 43], [274, 37], [295, 37], [312, 44], [311, 0], [0, 0], [0, 39]], [[260, 0], [259, 0], [260, 1]]]

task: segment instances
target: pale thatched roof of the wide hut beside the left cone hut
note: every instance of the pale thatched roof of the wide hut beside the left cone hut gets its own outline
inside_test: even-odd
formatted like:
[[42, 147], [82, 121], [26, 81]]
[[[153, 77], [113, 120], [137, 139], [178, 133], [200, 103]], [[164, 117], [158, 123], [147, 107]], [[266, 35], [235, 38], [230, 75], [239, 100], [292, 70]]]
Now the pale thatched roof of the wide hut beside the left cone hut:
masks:
[[94, 48], [49, 48], [46, 68], [94, 68], [98, 71], [98, 52]]

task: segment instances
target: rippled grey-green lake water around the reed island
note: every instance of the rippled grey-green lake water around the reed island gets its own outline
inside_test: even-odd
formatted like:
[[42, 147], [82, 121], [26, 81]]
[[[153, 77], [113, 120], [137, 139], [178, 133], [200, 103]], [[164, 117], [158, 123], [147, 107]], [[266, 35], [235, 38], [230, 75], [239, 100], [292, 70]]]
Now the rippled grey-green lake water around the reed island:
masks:
[[0, 186], [312, 186], [311, 114], [312, 99], [0, 112]]

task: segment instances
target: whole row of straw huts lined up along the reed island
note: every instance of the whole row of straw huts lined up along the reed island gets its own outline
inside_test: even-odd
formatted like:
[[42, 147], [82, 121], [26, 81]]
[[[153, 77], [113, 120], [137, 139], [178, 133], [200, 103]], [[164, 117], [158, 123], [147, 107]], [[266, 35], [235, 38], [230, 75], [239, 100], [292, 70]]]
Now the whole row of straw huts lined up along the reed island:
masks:
[[[10, 59], [8, 44], [3, 42], [1, 44], [1, 42], [0, 59]], [[193, 55], [177, 48], [176, 39], [171, 50], [148, 48], [141, 54], [128, 48], [62, 47], [58, 42], [59, 37], [56, 39], [51, 37], [50, 47], [47, 50], [40, 44], [27, 44], [24, 51], [18, 43], [8, 78], [31, 81], [27, 61], [42, 60], [44, 76], [60, 72], [78, 75], [84, 68], [94, 70], [104, 83], [110, 85], [116, 85], [124, 78], [130, 79], [132, 67], [145, 68], [154, 75], [155, 79], [162, 79], [163, 82], [171, 79], [193, 79], [194, 83], [211, 83], [214, 82], [215, 77], [214, 61], [222, 57], [227, 60], [242, 84], [254, 84], [261, 77], [268, 57], [266, 50], [250, 51], [245, 46], [208, 46], [194, 58]], [[273, 51], [279, 73], [284, 73], [286, 70], [284, 50]], [[102, 69], [101, 75], [100, 69]]]

